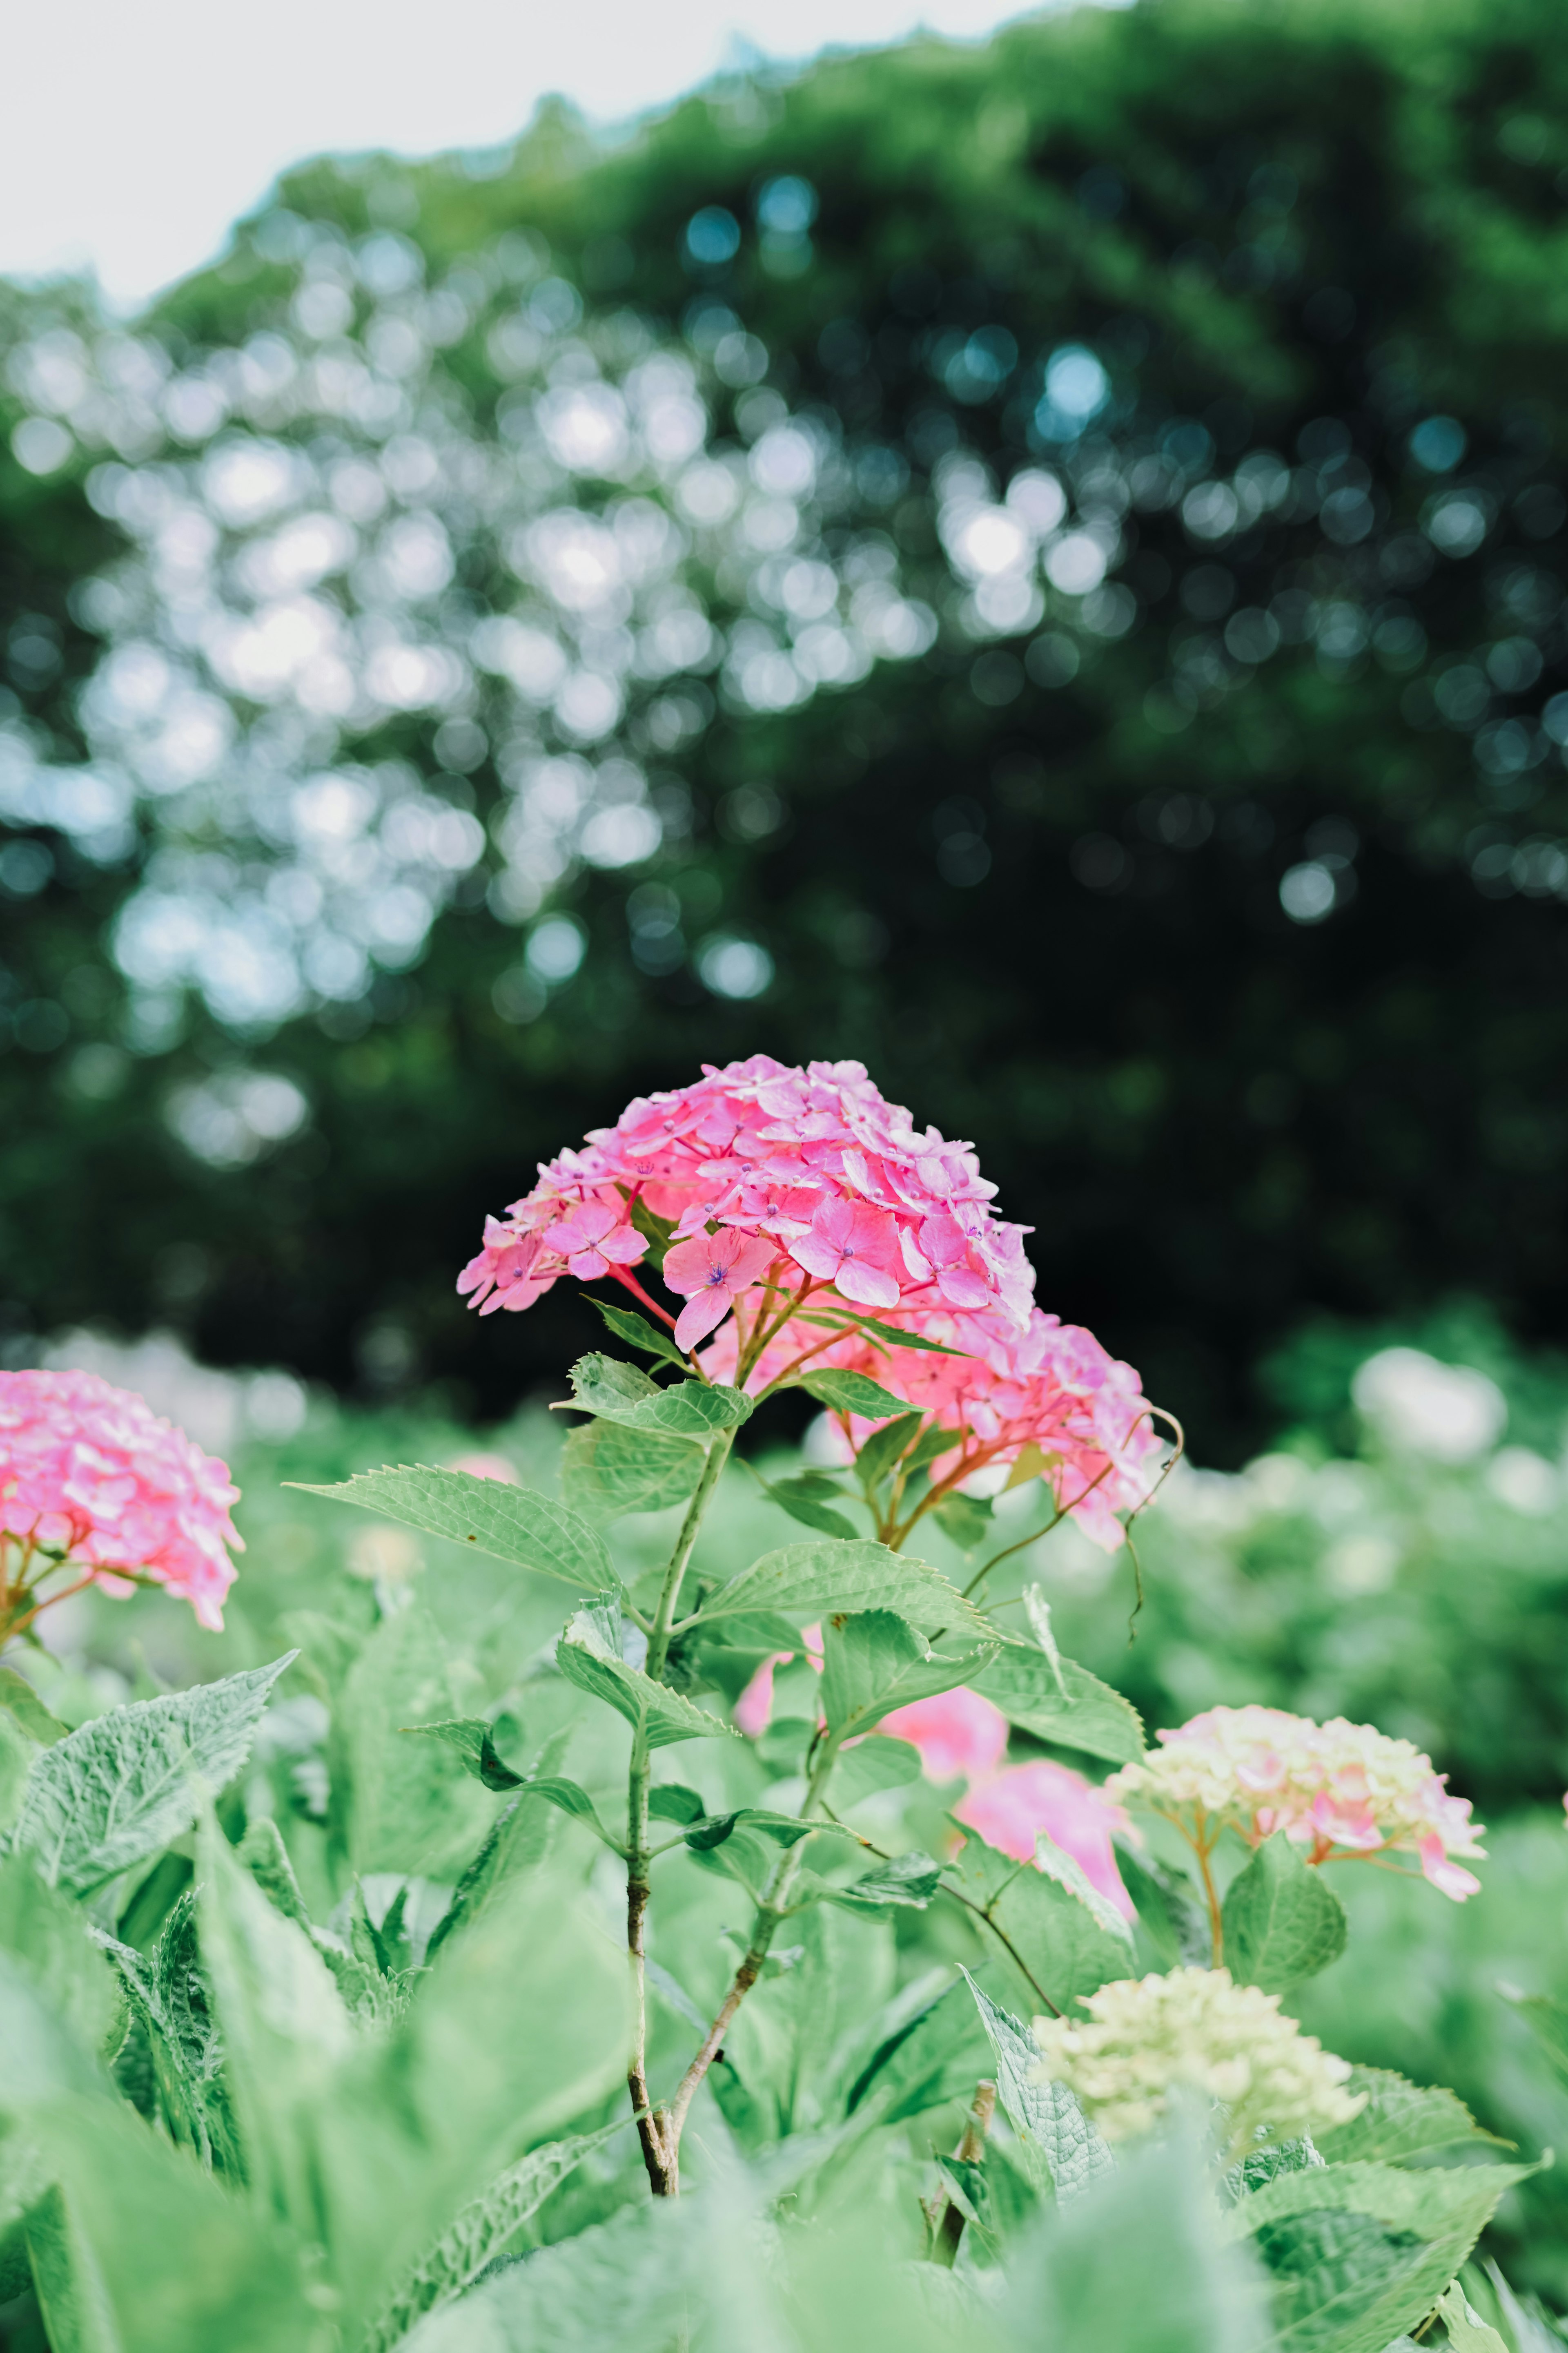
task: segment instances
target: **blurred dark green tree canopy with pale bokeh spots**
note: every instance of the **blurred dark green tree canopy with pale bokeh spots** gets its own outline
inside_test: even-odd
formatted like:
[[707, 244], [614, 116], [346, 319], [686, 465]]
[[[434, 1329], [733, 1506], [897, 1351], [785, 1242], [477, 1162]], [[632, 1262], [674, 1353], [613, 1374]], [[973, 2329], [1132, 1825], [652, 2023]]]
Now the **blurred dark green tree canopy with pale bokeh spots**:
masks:
[[1568, 1325], [1568, 54], [1145, 0], [289, 176], [0, 304], [0, 1294], [501, 1409], [698, 1061], [973, 1136], [1208, 1459]]

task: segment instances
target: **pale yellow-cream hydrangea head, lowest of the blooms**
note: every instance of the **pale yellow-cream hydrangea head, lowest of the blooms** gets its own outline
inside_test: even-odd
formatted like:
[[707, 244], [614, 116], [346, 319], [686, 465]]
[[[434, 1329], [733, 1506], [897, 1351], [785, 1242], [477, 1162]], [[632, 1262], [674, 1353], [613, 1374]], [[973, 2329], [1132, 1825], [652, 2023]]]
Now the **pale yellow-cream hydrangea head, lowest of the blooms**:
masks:
[[1039, 2075], [1065, 2082], [1107, 2141], [1147, 2132], [1178, 2085], [1225, 2111], [1234, 2162], [1267, 2134], [1347, 2125], [1366, 2094], [1345, 2089], [1349, 2066], [1281, 2017], [1279, 1995], [1232, 1984], [1229, 1969], [1124, 1977], [1081, 1995], [1088, 2024], [1034, 2019]]

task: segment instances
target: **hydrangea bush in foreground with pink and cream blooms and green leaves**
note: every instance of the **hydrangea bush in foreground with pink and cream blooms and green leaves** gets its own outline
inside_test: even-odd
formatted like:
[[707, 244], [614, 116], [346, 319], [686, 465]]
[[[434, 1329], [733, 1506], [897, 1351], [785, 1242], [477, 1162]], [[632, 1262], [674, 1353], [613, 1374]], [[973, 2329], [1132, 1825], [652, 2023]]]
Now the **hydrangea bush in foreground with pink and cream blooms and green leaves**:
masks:
[[[0, 1675], [0, 2219], [49, 2346], [1535, 2353], [1455, 2287], [1528, 2165], [1281, 2007], [1347, 1864], [1476, 1892], [1469, 1807], [1366, 1725], [1150, 1751], [1063, 1657], [1013, 1529], [1121, 1548], [1164, 1417], [1034, 1306], [969, 1146], [856, 1064], [712, 1068], [458, 1287], [562, 1275], [642, 1362], [571, 1367], [559, 1499], [362, 1471], [296, 1652], [75, 1732]], [[825, 1445], [729, 1558], [783, 1391]], [[214, 1621], [221, 1466], [82, 1377], [0, 1433], [16, 1635], [47, 1577]], [[503, 1572], [465, 1649], [416, 1539]]]

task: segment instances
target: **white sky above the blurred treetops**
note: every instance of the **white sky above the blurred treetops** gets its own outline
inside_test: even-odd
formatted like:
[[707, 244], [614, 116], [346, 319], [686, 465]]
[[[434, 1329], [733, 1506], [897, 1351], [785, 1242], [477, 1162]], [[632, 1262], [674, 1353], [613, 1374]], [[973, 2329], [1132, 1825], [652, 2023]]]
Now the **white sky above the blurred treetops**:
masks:
[[75, 0], [5, 33], [0, 273], [92, 266], [136, 304], [322, 151], [515, 136], [548, 92], [602, 122], [661, 106], [733, 42], [809, 56], [917, 26], [980, 38], [1018, 0]]

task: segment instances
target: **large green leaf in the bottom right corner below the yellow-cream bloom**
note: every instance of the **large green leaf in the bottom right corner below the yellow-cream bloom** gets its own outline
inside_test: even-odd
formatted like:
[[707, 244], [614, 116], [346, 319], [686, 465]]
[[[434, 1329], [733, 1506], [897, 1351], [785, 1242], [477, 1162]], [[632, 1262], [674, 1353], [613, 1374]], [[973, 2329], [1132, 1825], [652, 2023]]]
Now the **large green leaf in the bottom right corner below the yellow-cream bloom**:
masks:
[[1269, 2353], [1382, 2353], [1418, 2327], [1521, 2165], [1328, 2165], [1276, 2174], [1225, 2233], [1274, 2273]]

